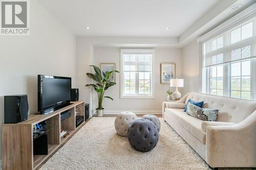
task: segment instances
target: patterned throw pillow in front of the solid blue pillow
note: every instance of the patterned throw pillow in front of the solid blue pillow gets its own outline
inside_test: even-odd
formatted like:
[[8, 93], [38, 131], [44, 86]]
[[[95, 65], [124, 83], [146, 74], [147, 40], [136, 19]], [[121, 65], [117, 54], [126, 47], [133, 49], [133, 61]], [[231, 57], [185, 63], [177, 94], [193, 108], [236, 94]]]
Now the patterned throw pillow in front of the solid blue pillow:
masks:
[[218, 109], [200, 108], [192, 103], [187, 104], [187, 114], [204, 121], [216, 121]]

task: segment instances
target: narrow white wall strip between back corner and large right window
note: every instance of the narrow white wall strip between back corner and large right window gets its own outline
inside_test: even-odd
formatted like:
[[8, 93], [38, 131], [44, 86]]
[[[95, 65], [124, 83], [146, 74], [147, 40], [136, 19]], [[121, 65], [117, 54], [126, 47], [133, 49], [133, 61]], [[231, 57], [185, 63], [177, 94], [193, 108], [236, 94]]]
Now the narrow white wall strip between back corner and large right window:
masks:
[[182, 48], [184, 94], [199, 92], [200, 85], [200, 48], [194, 40]]

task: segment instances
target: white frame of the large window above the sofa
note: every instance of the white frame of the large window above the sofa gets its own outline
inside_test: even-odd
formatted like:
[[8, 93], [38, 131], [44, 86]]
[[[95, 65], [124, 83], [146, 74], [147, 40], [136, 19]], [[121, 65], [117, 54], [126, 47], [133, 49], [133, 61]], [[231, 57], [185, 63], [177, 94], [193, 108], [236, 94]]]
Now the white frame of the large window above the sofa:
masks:
[[[241, 27], [243, 27], [247, 23], [250, 23], [249, 20], [256, 16], [256, 11], [251, 12], [251, 9], [253, 9], [255, 7], [256, 7], [256, 4], [248, 7], [241, 13], [228, 19], [227, 21], [223, 22], [221, 25], [219, 25], [215, 29], [212, 29], [211, 31], [209, 31], [208, 33], [204, 34], [203, 36], [201, 36], [197, 39], [197, 41], [200, 44], [200, 90], [199, 90], [199, 92], [210, 94], [210, 91], [209, 91], [209, 85], [210, 85], [209, 84], [210, 83], [209, 82], [209, 69], [210, 69], [210, 66], [208, 66], [208, 67], [204, 66], [204, 64], [205, 64], [205, 58], [204, 58], [205, 47], [203, 44], [206, 41], [210, 40], [212, 37], [218, 38], [218, 37], [222, 36], [222, 33], [226, 32], [227, 29], [230, 30], [230, 34], [231, 34], [231, 31], [236, 30], [237, 29], [236, 27], [238, 25], [240, 25], [241, 23], [244, 23]], [[234, 28], [236, 28], [236, 29], [234, 29]], [[249, 59], [251, 60], [251, 74], [250, 74], [251, 100], [256, 101], [256, 77], [255, 77], [256, 76], [256, 58], [248, 57], [248, 58], [245, 58], [244, 60], [249, 60]], [[240, 60], [240, 61], [244, 61], [244, 60]], [[231, 96], [231, 94], [230, 94], [230, 83], [231, 83], [230, 82], [231, 81], [230, 64], [233, 62], [236, 62], [236, 60], [223, 63], [223, 69], [224, 69], [224, 72], [223, 72], [223, 96], [227, 96], [229, 98], [231, 98], [230, 97]], [[244, 99], [244, 100], [246, 100], [246, 99]]]

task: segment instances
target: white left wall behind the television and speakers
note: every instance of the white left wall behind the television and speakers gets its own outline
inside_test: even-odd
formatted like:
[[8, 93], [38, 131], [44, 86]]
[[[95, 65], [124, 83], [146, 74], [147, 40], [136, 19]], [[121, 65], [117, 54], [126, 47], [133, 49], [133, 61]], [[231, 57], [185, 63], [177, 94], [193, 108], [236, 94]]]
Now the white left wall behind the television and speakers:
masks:
[[4, 95], [28, 94], [29, 112], [37, 111], [38, 74], [72, 77], [75, 87], [75, 37], [37, 1], [30, 17], [29, 36], [0, 37], [0, 124]]

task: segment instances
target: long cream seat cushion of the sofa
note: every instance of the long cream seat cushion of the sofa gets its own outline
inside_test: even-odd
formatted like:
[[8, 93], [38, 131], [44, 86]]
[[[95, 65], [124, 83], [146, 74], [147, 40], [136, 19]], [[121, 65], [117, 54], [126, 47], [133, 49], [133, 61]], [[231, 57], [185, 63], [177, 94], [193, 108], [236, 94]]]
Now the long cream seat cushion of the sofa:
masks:
[[165, 108], [166, 114], [170, 114], [184, 129], [194, 135], [202, 143], [205, 143], [205, 132], [201, 128], [202, 120], [189, 116], [183, 109]]

